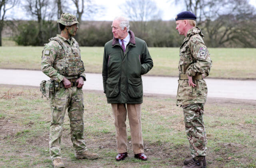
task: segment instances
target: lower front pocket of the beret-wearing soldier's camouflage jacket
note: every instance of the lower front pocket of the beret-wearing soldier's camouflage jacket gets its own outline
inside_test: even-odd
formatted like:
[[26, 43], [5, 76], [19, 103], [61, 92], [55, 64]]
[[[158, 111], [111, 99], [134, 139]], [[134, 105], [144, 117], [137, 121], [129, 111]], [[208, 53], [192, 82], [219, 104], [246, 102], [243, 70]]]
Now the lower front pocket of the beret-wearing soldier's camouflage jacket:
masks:
[[179, 80], [178, 82], [178, 100], [192, 100], [196, 98], [196, 87], [189, 86], [188, 80]]

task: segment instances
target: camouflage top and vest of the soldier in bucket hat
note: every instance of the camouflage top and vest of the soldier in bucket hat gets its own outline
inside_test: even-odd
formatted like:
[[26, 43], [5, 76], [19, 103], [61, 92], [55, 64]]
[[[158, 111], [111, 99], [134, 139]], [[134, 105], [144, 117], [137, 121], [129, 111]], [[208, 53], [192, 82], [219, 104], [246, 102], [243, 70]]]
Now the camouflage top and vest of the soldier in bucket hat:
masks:
[[[64, 44], [54, 39], [60, 39]], [[64, 76], [66, 78], [83, 76], [85, 79], [78, 42], [74, 38], [67, 40], [60, 35], [49, 40], [50, 42], [44, 46], [42, 51], [42, 72], [57, 82], [61, 82]]]

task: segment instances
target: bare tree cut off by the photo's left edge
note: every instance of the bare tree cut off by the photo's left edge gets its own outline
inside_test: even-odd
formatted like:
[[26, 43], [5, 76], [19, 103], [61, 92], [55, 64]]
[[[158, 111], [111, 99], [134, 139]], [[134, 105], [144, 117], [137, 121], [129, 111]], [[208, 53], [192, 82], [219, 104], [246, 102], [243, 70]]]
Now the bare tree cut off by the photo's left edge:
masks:
[[2, 30], [6, 19], [6, 11], [13, 8], [18, 2], [19, 0], [0, 0], [0, 46], [2, 46]]

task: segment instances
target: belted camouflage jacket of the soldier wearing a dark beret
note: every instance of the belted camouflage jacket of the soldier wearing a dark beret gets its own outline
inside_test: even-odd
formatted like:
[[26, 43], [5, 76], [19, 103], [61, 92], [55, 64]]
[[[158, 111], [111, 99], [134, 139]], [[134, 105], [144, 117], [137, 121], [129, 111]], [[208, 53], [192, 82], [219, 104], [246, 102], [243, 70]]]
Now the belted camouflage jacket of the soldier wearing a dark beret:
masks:
[[[179, 74], [208, 76], [212, 66], [210, 54], [202, 39], [200, 28], [194, 27], [188, 30], [183, 44], [180, 46]], [[193, 80], [196, 86], [189, 86], [188, 80], [178, 80], [177, 105], [205, 103], [207, 86], [203, 79]]]

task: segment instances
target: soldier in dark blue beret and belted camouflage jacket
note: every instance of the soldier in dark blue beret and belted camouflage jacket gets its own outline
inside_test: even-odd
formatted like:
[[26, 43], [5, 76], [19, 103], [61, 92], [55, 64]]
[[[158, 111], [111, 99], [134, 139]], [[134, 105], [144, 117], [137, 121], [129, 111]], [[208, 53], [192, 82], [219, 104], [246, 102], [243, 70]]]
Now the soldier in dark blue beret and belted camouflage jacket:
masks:
[[203, 78], [209, 75], [212, 60], [202, 39], [204, 35], [200, 28], [195, 27], [195, 20], [196, 16], [191, 12], [181, 12], [176, 16], [176, 29], [186, 37], [180, 47], [177, 106], [183, 108], [192, 154], [192, 159], [184, 160], [183, 168], [206, 167], [207, 140], [203, 114], [207, 86]]

